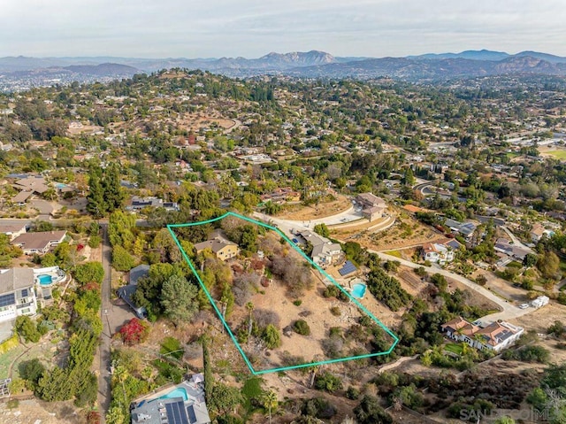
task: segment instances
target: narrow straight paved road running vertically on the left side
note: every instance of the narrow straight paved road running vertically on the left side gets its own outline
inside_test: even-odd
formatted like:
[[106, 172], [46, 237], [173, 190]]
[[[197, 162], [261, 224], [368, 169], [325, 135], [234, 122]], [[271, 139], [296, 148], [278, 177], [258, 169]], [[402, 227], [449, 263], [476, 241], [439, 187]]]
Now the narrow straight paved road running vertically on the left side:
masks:
[[111, 342], [111, 328], [108, 321], [108, 313], [110, 313], [110, 292], [111, 292], [111, 247], [108, 239], [108, 226], [101, 225], [103, 231], [103, 269], [104, 280], [102, 287], [102, 308], [101, 318], [103, 320], [103, 335], [100, 341], [100, 374], [98, 375], [98, 405], [102, 414], [101, 423], [104, 424], [104, 414], [108, 411], [111, 401], [111, 388], [110, 388], [110, 342]]

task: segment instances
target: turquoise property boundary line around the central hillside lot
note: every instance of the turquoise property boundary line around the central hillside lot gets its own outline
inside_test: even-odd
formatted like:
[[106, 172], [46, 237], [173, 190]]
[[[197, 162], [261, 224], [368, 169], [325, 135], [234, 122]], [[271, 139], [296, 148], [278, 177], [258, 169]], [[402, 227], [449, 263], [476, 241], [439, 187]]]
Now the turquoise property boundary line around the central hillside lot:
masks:
[[[244, 351], [241, 349], [241, 345], [240, 345], [240, 343], [238, 343], [238, 340], [233, 335], [232, 329], [230, 328], [230, 326], [228, 326], [228, 323], [226, 322], [226, 320], [222, 316], [222, 312], [220, 312], [220, 310], [218, 309], [218, 306], [216, 305], [215, 300], [210, 296], [209, 290], [206, 289], [206, 286], [204, 285], [203, 280], [201, 280], [200, 275], [196, 271], [195, 265], [193, 264], [191, 259], [188, 258], [187, 252], [183, 249], [183, 247], [180, 244], [179, 238], [177, 237], [177, 235], [175, 235], [175, 232], [173, 231], [173, 228], [194, 227], [194, 226], [197, 226], [197, 225], [210, 224], [211, 222], [215, 222], [215, 221], [218, 221], [218, 220], [224, 220], [226, 217], [229, 217], [229, 216], [233, 216], [233, 217], [239, 218], [241, 220], [251, 222], [252, 224], [256, 224], [256, 225], [261, 226], [261, 227], [269, 228], [272, 231], [275, 231], [281, 237], [283, 237], [283, 239], [291, 247], [293, 247], [293, 249], [295, 251], [297, 251], [302, 256], [302, 258], [305, 258], [310, 263], [311, 266], [314, 266], [315, 268], [317, 268], [318, 272], [320, 274], [324, 275], [325, 278], [327, 278], [329, 281], [332, 281], [333, 284], [336, 287], [338, 287], [338, 289], [340, 289], [346, 296], [348, 296], [350, 301], [354, 302], [354, 304], [358, 308], [360, 308], [364, 313], [366, 313], [371, 318], [371, 320], [374, 320], [379, 325], [380, 328], [382, 328], [388, 335], [390, 335], [394, 339], [394, 343], [391, 345], [391, 347], [387, 351], [367, 353], [367, 354], [364, 354], [364, 355], [356, 355], [356, 356], [351, 356], [351, 357], [348, 357], [348, 358], [327, 359], [327, 360], [309, 362], [309, 363], [306, 363], [306, 364], [299, 364], [299, 365], [294, 365], [294, 366], [280, 366], [280, 367], [277, 367], [277, 368], [256, 370], [254, 368], [254, 366], [252, 366], [251, 363], [249, 362], [249, 358], [246, 355], [246, 353], [244, 353]], [[246, 365], [249, 367], [249, 371], [251, 371], [251, 373], [254, 374], [254, 375], [267, 374], [267, 373], [277, 373], [279, 371], [287, 371], [287, 370], [292, 370], [292, 369], [297, 369], [297, 368], [305, 368], [305, 367], [308, 367], [308, 366], [321, 366], [321, 365], [325, 365], [325, 364], [333, 364], [333, 363], [336, 363], [336, 362], [345, 362], [345, 361], [353, 360], [353, 359], [371, 358], [371, 357], [388, 355], [394, 350], [395, 345], [397, 343], [399, 343], [399, 337], [397, 337], [397, 335], [394, 335], [393, 331], [391, 331], [389, 328], [386, 327], [385, 324], [383, 324], [380, 320], [378, 320], [376, 317], [374, 317], [373, 314], [371, 312], [369, 312], [365, 307], [363, 307], [363, 305], [360, 304], [356, 300], [355, 297], [352, 297], [348, 293], [348, 291], [346, 291], [345, 289], [342, 288], [342, 286], [340, 286], [340, 284], [338, 282], [334, 281], [333, 277], [331, 277], [329, 274], [326, 274], [324, 269], [322, 269], [320, 266], [317, 266], [317, 264], [315, 264], [311, 258], [309, 258], [301, 249], [299, 249], [293, 242], [291, 242], [291, 240], [289, 240], [287, 235], [285, 235], [277, 227], [272, 227], [271, 225], [265, 224], [264, 222], [259, 221], [259, 220], [252, 220], [251, 218], [240, 215], [239, 213], [226, 212], [224, 215], [219, 216], [218, 218], [214, 218], [212, 220], [204, 220], [204, 221], [200, 221], [200, 222], [189, 222], [189, 223], [185, 223], [185, 224], [169, 224], [169, 225], [167, 225], [167, 229], [171, 233], [172, 238], [175, 241], [175, 243], [177, 243], [177, 246], [179, 247], [181, 254], [183, 255], [183, 258], [185, 258], [185, 260], [187, 261], [187, 264], [191, 268], [191, 271], [193, 272], [193, 274], [195, 274], [196, 279], [198, 280], [199, 284], [201, 285], [201, 288], [204, 290], [204, 293], [206, 294], [206, 297], [208, 297], [208, 299], [209, 299], [210, 305], [212, 305], [212, 307], [216, 311], [218, 318], [222, 321], [222, 324], [224, 325], [224, 327], [226, 328], [226, 331], [228, 332], [228, 334], [232, 338], [234, 345], [236, 346], [238, 351], [240, 351], [241, 357], [244, 359], [244, 361], [246, 362]]]

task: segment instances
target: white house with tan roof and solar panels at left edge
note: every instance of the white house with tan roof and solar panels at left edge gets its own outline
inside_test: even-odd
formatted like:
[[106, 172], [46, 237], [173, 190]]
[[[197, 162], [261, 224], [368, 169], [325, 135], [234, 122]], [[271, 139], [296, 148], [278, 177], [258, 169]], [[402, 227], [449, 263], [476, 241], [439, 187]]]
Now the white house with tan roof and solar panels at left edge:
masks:
[[37, 299], [32, 268], [0, 270], [0, 322], [14, 320], [20, 315], [34, 315]]

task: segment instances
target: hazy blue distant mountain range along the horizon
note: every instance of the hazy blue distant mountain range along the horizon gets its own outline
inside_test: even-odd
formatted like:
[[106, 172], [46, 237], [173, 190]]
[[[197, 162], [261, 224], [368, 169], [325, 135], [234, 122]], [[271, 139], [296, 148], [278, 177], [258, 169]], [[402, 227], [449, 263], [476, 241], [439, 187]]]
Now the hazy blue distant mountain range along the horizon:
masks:
[[[65, 81], [124, 78], [173, 67], [201, 69], [228, 76], [284, 74], [297, 77], [377, 78], [439, 81], [501, 74], [566, 75], [566, 58], [537, 51], [509, 55], [502, 51], [466, 50], [406, 58], [336, 58], [324, 51], [269, 53], [261, 58], [0, 58], [0, 81], [41, 79], [54, 74]], [[52, 79], [52, 78], [51, 78]]]

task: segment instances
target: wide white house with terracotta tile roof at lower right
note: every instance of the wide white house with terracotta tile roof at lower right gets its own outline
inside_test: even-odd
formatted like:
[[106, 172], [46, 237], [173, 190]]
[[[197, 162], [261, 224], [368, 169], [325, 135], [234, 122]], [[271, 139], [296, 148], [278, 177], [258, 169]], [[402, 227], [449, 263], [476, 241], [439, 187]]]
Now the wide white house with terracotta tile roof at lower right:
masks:
[[524, 328], [516, 327], [509, 322], [496, 321], [480, 327], [476, 323], [470, 323], [462, 317], [449, 320], [440, 326], [448, 337], [457, 341], [468, 343], [476, 349], [484, 349], [499, 352], [523, 335]]

